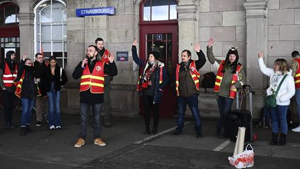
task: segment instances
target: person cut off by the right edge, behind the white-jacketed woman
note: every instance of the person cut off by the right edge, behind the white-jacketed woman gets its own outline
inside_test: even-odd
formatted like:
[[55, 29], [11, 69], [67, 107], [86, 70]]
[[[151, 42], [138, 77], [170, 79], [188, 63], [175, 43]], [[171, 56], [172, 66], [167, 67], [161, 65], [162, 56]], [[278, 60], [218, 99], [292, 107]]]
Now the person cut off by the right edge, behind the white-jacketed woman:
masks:
[[294, 132], [300, 132], [300, 68], [299, 68], [299, 63], [300, 63], [300, 55], [299, 51], [293, 51], [292, 52], [292, 62], [291, 62], [291, 69], [292, 69], [292, 76], [294, 77], [295, 81], [295, 98], [297, 102], [297, 115], [298, 115], [298, 120], [299, 120], [299, 126], [292, 129]]

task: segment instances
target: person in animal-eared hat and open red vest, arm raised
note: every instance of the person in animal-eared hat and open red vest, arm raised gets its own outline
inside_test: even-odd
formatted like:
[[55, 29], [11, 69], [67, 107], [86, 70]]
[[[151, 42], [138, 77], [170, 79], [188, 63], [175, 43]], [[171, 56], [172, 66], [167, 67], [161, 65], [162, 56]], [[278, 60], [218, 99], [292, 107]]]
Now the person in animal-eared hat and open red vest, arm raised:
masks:
[[225, 131], [225, 124], [228, 121], [228, 115], [231, 111], [233, 99], [240, 88], [245, 84], [246, 79], [244, 69], [238, 62], [238, 47], [231, 47], [226, 54], [225, 60], [219, 60], [213, 55], [214, 40], [208, 40], [207, 56], [208, 60], [214, 65], [217, 71], [214, 91], [217, 92], [217, 104], [219, 107], [220, 120], [217, 123], [217, 136], [219, 138], [227, 137], [228, 131]]

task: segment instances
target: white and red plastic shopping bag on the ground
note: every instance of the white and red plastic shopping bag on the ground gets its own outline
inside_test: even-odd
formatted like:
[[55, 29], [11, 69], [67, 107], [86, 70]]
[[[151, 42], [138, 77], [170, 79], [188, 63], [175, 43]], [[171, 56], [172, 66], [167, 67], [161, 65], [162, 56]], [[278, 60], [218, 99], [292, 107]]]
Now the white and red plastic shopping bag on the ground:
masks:
[[[251, 150], [248, 150], [248, 147]], [[253, 147], [248, 144], [244, 152], [236, 154], [235, 156], [228, 156], [228, 161], [235, 168], [249, 168], [254, 166], [254, 151]]]

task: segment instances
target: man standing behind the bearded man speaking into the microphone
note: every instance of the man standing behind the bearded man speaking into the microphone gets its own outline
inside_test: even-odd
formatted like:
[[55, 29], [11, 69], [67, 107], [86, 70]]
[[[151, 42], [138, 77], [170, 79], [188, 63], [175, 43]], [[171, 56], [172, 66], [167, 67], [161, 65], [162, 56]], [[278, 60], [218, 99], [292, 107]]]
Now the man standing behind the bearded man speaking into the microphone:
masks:
[[[97, 38], [95, 40], [95, 44], [98, 49], [99, 60], [108, 63], [108, 56], [110, 55], [110, 51], [105, 49], [104, 47], [104, 40], [102, 38]], [[104, 127], [111, 127], [110, 124], [110, 82], [113, 81], [113, 77], [109, 76], [108, 74], [104, 74], [104, 103], [103, 103], [103, 125]]]

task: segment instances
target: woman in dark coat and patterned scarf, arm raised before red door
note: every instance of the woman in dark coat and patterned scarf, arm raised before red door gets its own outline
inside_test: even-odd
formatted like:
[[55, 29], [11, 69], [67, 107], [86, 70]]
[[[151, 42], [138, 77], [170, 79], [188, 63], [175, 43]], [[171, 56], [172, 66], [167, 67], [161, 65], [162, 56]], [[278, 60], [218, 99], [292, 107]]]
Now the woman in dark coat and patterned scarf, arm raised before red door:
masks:
[[[146, 130], [144, 134], [156, 134], [159, 120], [159, 105], [163, 97], [163, 88], [167, 85], [169, 77], [165, 64], [158, 61], [158, 52], [150, 51], [147, 61], [142, 61], [137, 54], [137, 41], [134, 40], [131, 48], [133, 61], [142, 67], [137, 90], [142, 95], [144, 106], [144, 122]], [[153, 108], [153, 129], [150, 132], [151, 108]]]

